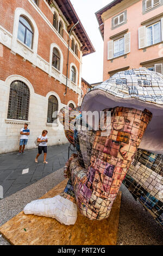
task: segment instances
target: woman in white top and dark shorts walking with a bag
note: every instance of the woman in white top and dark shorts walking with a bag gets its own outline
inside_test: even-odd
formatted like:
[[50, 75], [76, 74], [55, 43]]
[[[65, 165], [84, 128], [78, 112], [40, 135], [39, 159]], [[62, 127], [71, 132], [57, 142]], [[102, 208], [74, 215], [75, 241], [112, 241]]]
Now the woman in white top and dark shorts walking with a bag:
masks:
[[39, 153], [36, 155], [36, 158], [35, 158], [35, 162], [37, 163], [38, 162], [38, 157], [42, 154], [42, 150], [43, 150], [43, 163], [48, 163], [46, 161], [46, 156], [47, 156], [47, 142], [48, 142], [48, 139], [47, 139], [47, 130], [43, 130], [42, 131], [42, 135], [40, 135], [38, 138], [37, 138], [37, 143], [38, 144], [38, 150], [39, 150]]

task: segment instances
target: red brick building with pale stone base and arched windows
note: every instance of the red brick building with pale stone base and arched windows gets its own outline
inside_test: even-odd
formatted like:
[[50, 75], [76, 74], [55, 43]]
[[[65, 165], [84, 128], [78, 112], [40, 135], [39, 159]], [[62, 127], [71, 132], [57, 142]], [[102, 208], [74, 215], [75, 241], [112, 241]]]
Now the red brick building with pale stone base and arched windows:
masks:
[[53, 112], [81, 104], [82, 57], [95, 49], [69, 0], [2, 0], [0, 10], [0, 154], [18, 149], [24, 123], [27, 149], [44, 129], [48, 145], [66, 143]]

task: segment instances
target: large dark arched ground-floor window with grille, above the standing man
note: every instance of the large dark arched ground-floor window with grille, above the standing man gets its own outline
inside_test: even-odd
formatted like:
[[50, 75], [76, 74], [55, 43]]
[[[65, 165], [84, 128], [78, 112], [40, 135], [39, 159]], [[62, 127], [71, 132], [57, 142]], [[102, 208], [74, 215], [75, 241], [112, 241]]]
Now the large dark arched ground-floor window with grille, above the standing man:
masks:
[[29, 88], [22, 81], [13, 81], [10, 85], [8, 118], [28, 120]]

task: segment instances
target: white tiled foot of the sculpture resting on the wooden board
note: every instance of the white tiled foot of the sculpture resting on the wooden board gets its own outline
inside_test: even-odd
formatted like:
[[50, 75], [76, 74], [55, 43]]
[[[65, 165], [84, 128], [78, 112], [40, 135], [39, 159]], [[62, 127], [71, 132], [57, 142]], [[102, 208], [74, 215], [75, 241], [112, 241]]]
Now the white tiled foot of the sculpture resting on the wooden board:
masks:
[[73, 225], [77, 220], [77, 205], [59, 195], [34, 200], [27, 204], [23, 211], [24, 214], [55, 218], [65, 225]]

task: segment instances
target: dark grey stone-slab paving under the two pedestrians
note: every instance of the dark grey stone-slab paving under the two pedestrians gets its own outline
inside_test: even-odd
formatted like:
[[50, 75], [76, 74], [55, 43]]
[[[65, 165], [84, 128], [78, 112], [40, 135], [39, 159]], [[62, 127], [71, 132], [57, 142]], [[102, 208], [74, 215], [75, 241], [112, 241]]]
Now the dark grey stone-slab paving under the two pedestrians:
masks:
[[[24, 151], [23, 154], [9, 153], [0, 155], [0, 199], [22, 190], [65, 166], [70, 144], [48, 147], [47, 161], [43, 164], [43, 154], [35, 163], [37, 149]], [[70, 151], [72, 154], [72, 151]]]

